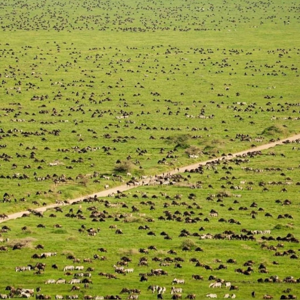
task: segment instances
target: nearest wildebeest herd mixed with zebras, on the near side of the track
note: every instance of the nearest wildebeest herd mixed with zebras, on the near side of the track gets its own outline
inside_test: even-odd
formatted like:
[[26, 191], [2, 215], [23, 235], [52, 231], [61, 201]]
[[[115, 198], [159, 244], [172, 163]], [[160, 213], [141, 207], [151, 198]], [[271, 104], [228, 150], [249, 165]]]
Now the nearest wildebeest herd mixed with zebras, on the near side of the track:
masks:
[[[285, 146], [278, 147], [289, 147], [292, 149], [293, 153], [297, 153], [297, 144], [299, 143], [299, 139], [295, 140], [293, 143], [287, 141]], [[280, 149], [280, 152], [283, 154], [284, 149]], [[38, 260], [38, 262], [31, 262], [26, 265], [26, 258], [24, 258], [24, 266], [11, 266], [10, 268], [14, 268], [14, 270], [19, 272], [20, 275], [22, 272], [29, 271], [33, 272], [33, 274], [37, 276], [44, 276], [48, 273], [47, 269], [51, 268], [57, 271], [57, 273], [55, 273], [56, 278], [48, 277], [46, 280], [43, 280], [42, 284], [36, 288], [36, 291], [34, 289], [26, 289], [23, 287], [18, 288], [15, 286], [7, 286], [7, 293], [1, 294], [1, 298], [13, 296], [30, 298], [35, 294], [37, 299], [50, 299], [51, 295], [45, 295], [42, 293], [42, 290], [45, 289], [44, 285], [47, 284], [55, 284], [55, 286], [69, 285], [69, 287], [64, 290], [71, 290], [72, 293], [68, 295], [56, 294], [55, 299], [76, 299], [78, 297], [82, 297], [83, 299], [121, 299], [124, 295], [126, 295], [127, 299], [138, 299], [139, 295], [143, 295], [145, 292], [156, 294], [158, 299], [166, 298], [167, 293], [171, 294], [170, 297], [172, 299], [181, 299], [182, 297], [195, 299], [197, 295], [200, 298], [205, 296], [207, 298], [217, 298], [217, 296], [235, 298], [236, 294], [241, 291], [241, 286], [244, 286], [245, 284], [250, 284], [251, 286], [251, 283], [250, 281], [247, 283], [247, 281], [244, 280], [238, 281], [238, 284], [236, 280], [229, 281], [228, 279], [231, 275], [234, 273], [241, 274], [241, 276], [244, 275], [252, 277], [253, 274], [258, 273], [261, 277], [256, 280], [257, 283], [274, 283], [280, 284], [280, 286], [284, 287], [284, 294], [280, 296], [280, 299], [296, 299], [297, 295], [293, 294], [292, 291], [297, 292], [298, 284], [300, 283], [300, 277], [297, 271], [294, 274], [280, 278], [280, 276], [277, 275], [278, 273], [276, 274], [276, 271], [274, 272], [274, 267], [277, 272], [280, 268], [284, 268], [284, 263], [280, 261], [280, 257], [289, 257], [291, 261], [295, 261], [295, 264], [297, 264], [297, 249], [292, 245], [298, 245], [299, 239], [295, 237], [292, 231], [286, 234], [286, 236], [277, 235], [275, 233], [276, 226], [271, 229], [266, 229], [262, 219], [276, 217], [278, 222], [280, 222], [280, 219], [283, 218], [287, 218], [292, 221], [296, 220], [296, 222], [299, 220], [299, 216], [297, 214], [298, 211], [295, 206], [288, 209], [290, 206], [295, 204], [294, 202], [298, 201], [297, 198], [289, 198], [290, 195], [292, 195], [292, 197], [295, 196], [295, 193], [289, 193], [288, 190], [292, 189], [293, 186], [300, 185], [300, 182], [295, 182], [295, 179], [299, 178], [299, 166], [295, 160], [289, 160], [289, 158], [286, 158], [286, 155], [279, 155], [281, 159], [287, 159], [290, 164], [289, 167], [286, 167], [286, 170], [283, 170], [280, 167], [267, 166], [260, 169], [249, 166], [251, 161], [255, 162], [255, 159], [262, 155], [263, 153], [260, 151], [249, 151], [241, 157], [232, 157], [232, 155], [226, 157], [223, 156], [223, 158], [215, 159], [205, 165], [199, 164], [198, 168], [186, 170], [184, 173], [173, 175], [166, 173], [163, 176], [143, 178], [143, 180], [149, 180], [145, 187], [135, 185], [134, 190], [132, 190], [131, 186], [129, 186], [128, 188], [131, 189], [129, 189], [128, 192], [117, 191], [117, 193], [110, 193], [105, 199], [98, 198], [95, 195], [87, 197], [82, 201], [58, 201], [56, 203], [57, 206], [45, 213], [36, 211], [35, 209], [29, 209], [29, 213], [25, 213], [22, 216], [24, 218], [24, 222], [22, 223], [26, 224], [26, 226], [19, 229], [21, 232], [31, 231], [26, 220], [30, 220], [32, 218], [34, 218], [35, 221], [34, 223], [31, 223], [31, 226], [36, 224], [36, 227], [41, 230], [46, 230], [49, 226], [44, 225], [44, 218], [53, 220], [50, 221], [50, 223], [52, 223], [50, 226], [53, 226], [54, 228], [63, 227], [61, 224], [55, 222], [56, 219], [59, 218], [62, 220], [61, 218], [69, 218], [76, 220], [76, 224], [81, 224], [79, 228], [77, 228], [77, 232], [83, 241], [86, 240], [86, 238], [97, 238], [98, 235], [101, 237], [101, 232], [104, 227], [107, 227], [107, 229], [111, 232], [114, 232], [114, 235], [118, 236], [119, 242], [122, 243], [122, 235], [126, 236], [126, 234], [129, 233], [126, 232], [126, 230], [129, 229], [126, 229], [126, 224], [132, 223], [136, 224], [137, 228], [131, 229], [132, 231], [140, 231], [142, 234], [143, 232], [147, 232], [145, 235], [154, 239], [152, 239], [152, 244], [148, 247], [138, 248], [138, 253], [135, 253], [133, 256], [121, 256], [118, 261], [115, 261], [110, 267], [106, 266], [105, 269], [103, 269], [103, 266], [101, 267], [101, 262], [110, 261], [109, 249], [111, 248], [109, 243], [107, 244], [107, 247], [98, 247], [97, 250], [92, 250], [89, 257], [83, 258], [77, 257], [76, 255], [64, 255], [64, 265], [55, 263], [55, 258], [62, 253], [33, 253], [31, 259], [28, 259], [31, 261]], [[274, 152], [269, 152], [268, 156], [273, 157]], [[244, 177], [241, 177], [239, 172], [242, 172]], [[267, 176], [265, 173], [269, 172], [280, 174], [283, 181], [266, 182], [264, 180], [264, 176]], [[289, 172], [289, 174], [293, 175], [287, 176], [286, 174], [283, 174], [284, 172]], [[253, 181], [241, 180], [241, 178], [247, 178], [247, 174], [249, 173], [254, 174], [255, 179], [253, 179]], [[204, 181], [204, 179], [209, 179], [213, 176], [217, 176], [219, 178], [218, 181], [220, 187], [217, 189], [214, 189], [212, 186], [206, 187], [206, 185], [209, 185], [209, 181]], [[203, 179], [203, 181], [198, 180], [196, 184], [192, 184], [192, 177], [194, 177], [194, 179]], [[128, 179], [128, 182], [131, 180], [132, 179]], [[142, 179], [140, 179], [140, 182], [141, 181]], [[172, 187], [170, 187], [169, 192], [159, 192], [158, 189], [157, 193], [153, 193], [152, 190], [151, 195], [150, 192], [147, 192], [147, 188], [151, 188], [155, 181], [158, 181], [157, 185], [161, 187], [161, 189], [165, 187], [165, 184], [163, 184], [164, 182], [169, 182], [169, 184], [173, 182], [173, 184], [170, 184]], [[136, 182], [139, 182], [138, 179], [136, 179]], [[184, 183], [185, 189], [190, 190], [188, 196], [184, 197], [179, 193], [174, 194], [176, 187], [182, 186]], [[142, 185], [142, 183], [140, 184]], [[168, 186], [169, 184], [166, 185]], [[135, 190], [137, 187], [141, 190]], [[282, 187], [286, 187], [286, 190], [283, 191]], [[143, 191], [143, 188], [146, 190]], [[206, 199], [199, 199], [199, 192], [205, 188], [219, 190], [219, 192], [217, 194], [209, 193]], [[280, 210], [278, 210], [280, 214], [273, 216], [269, 211], [265, 210], [263, 207], [264, 202], [261, 199], [260, 204], [253, 201], [247, 206], [243, 205], [243, 197], [247, 195], [245, 194], [246, 191], [249, 194], [256, 193], [255, 191], [259, 190], [261, 193], [268, 194], [269, 192], [271, 193], [272, 190], [274, 191], [274, 189], [276, 189], [278, 195], [284, 195], [287, 197], [287, 199], [284, 200], [273, 200], [274, 205], [280, 205], [285, 211], [289, 211], [289, 213], [283, 214]], [[257, 193], [255, 195], [257, 195]], [[134, 203], [134, 205], [129, 203]], [[202, 203], [202, 205], [199, 205], [199, 203]], [[214, 209], [208, 210], [208, 207], [214, 207]], [[84, 210], [83, 208], [86, 209]], [[295, 210], [297, 215], [292, 215], [293, 210]], [[160, 213], [155, 214], [156, 211], [159, 211]], [[232, 213], [238, 211], [238, 213], [235, 214], [237, 219], [226, 219], [221, 217], [225, 214], [225, 211], [230, 211]], [[247, 217], [243, 213], [244, 211], [247, 211]], [[61, 214], [61, 216], [58, 214]], [[64, 217], [62, 217], [63, 214]], [[6, 215], [2, 215], [1, 218], [5, 220]], [[254, 230], [243, 228], [242, 223], [244, 222], [244, 218], [252, 219], [258, 229]], [[135, 220], [139, 220], [139, 222], [135, 223]], [[145, 225], [138, 225], [143, 222]], [[167, 222], [166, 226], [163, 227], [165, 230], [160, 233], [155, 230], [155, 224], [158, 222]], [[223, 232], [215, 232], [213, 234], [209, 233], [210, 230], [207, 228], [214, 230], [213, 227], [210, 227], [210, 224], [214, 224], [216, 222], [228, 224], [228, 226], [226, 225], [226, 227], [224, 227], [228, 229]], [[101, 225], [99, 226], [99, 224]], [[183, 229], [180, 229], [182, 228], [181, 224], [184, 227]], [[251, 224], [252, 228], [253, 224], [254, 223]], [[172, 229], [176, 229], [176, 231], [178, 231], [178, 237], [168, 234], [168, 231]], [[236, 229], [240, 232], [236, 232]], [[194, 232], [192, 230], [194, 230]], [[8, 246], [1, 246], [1, 252], [5, 253], [6, 251], [10, 252], [13, 250], [22, 251], [23, 247], [26, 247], [26, 244], [22, 243], [22, 241], [16, 243], [12, 242], [10, 238], [12, 236], [13, 232], [10, 232], [10, 227], [8, 225], [2, 226], [1, 242], [7, 242]], [[164, 251], [155, 245], [155, 239], [157, 239], [158, 236], [166, 241], [166, 244], [164, 244]], [[173, 244], [172, 242], [173, 240], [180, 241], [182, 239], [192, 239], [194, 241], [200, 240], [199, 244], [201, 247], [196, 247], [196, 244], [193, 243], [183, 243], [182, 246], [178, 248], [179, 242], [176, 242], [176, 244]], [[258, 242], [260, 251], [267, 251], [267, 253], [269, 253], [268, 256], [273, 256], [274, 260], [272, 262], [268, 262], [267, 265], [267, 263], [253, 259], [247, 259], [245, 262], [241, 262], [240, 259], [227, 255], [226, 257], [228, 258], [226, 261], [222, 261], [220, 258], [214, 258], [211, 261], [212, 264], [209, 264], [208, 259], [205, 258], [205, 256], [202, 256], [202, 254], [207, 255], [206, 253], [209, 252], [209, 250], [205, 249], [205, 247], [208, 247], [208, 244], [206, 243], [213, 240], [221, 240], [228, 243], [233, 241], [241, 241], [243, 243]], [[147, 239], [147, 241], [149, 240]], [[173, 248], [167, 251], [168, 245], [172, 245], [171, 247]], [[175, 247], [176, 250], [174, 249]], [[228, 244], [227, 247], [229, 247]], [[43, 244], [35, 245], [36, 250], [44, 251], [44, 248], [45, 245]], [[48, 248], [48, 250], [50, 249]], [[100, 253], [98, 254], [97, 252]], [[251, 257], [250, 253], [248, 254], [248, 257]], [[47, 263], [49, 260], [50, 263]], [[263, 261], [265, 261], [265, 258]], [[191, 279], [186, 277], [178, 278], [179, 276], [176, 276], [177, 270], [186, 268], [187, 264], [193, 264], [195, 267], [195, 271], [191, 275]], [[141, 270], [142, 268], [143, 270], [146, 269], [146, 271], [139, 272], [138, 270]], [[272, 268], [273, 270], [271, 271], [271, 275], [268, 270], [269, 268]], [[203, 274], [203, 271], [205, 272], [204, 274], [207, 274], [206, 271], [209, 271], [211, 275], [200, 275], [199, 273], [195, 274], [197, 273], [196, 270], [200, 270], [198, 271], [200, 274]], [[218, 273], [215, 273], [222, 270], [226, 271], [225, 274], [228, 273], [229, 276], [227, 275], [227, 279], [220, 278]], [[139, 275], [137, 276], [136, 273]], [[171, 279], [168, 280], [170, 281], [171, 286], [151, 284], [149, 286], [143, 286], [143, 288], [140, 288], [140, 286], [139, 288], [123, 287], [120, 290], [119, 295], [100, 296], [91, 295], [91, 293], [89, 293], [89, 291], [93, 291], [93, 286], [95, 284], [100, 284], [99, 278], [101, 277], [107, 278], [107, 280], [122, 280], [122, 277], [132, 278], [134, 274], [136, 274], [134, 280], [138, 280], [140, 283], [147, 283], [148, 280], [151, 283], [154, 281], [160, 282], [161, 279], [159, 278], [162, 277], [174, 275], [176, 277], [171, 277]], [[22, 276], [19, 278], [22, 278]], [[130, 279], [130, 285], [134, 283], [134, 280]], [[194, 284], [192, 284], [194, 290], [190, 293], [184, 293], [184, 286], [186, 282], [190, 280], [194, 282]], [[203, 292], [201, 293], [201, 291], [199, 291], [197, 282], [203, 282], [205, 280], [208, 280], [207, 286], [212, 292], [203, 294]], [[41, 283], [41, 280], [37, 280], [37, 282]], [[124, 282], [126, 283], [127, 281], [125, 280]], [[222, 290], [222, 295], [220, 295], [220, 292], [215, 292], [218, 291], [218, 289]], [[147, 297], [151, 297], [151, 293], [148, 293]], [[54, 295], [52, 295], [52, 297], [53, 296]], [[252, 296], [253, 298], [256, 297], [256, 291], [253, 290], [251, 295], [240, 294], [241, 298], [248, 298], [249, 296]], [[271, 293], [262, 295], [263, 299], [273, 299], [273, 297], [274, 295]]]

